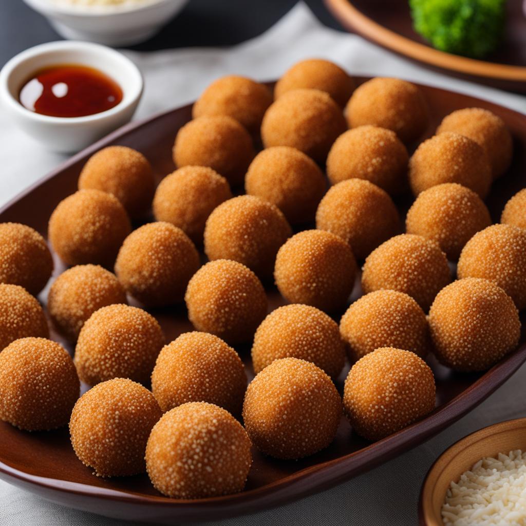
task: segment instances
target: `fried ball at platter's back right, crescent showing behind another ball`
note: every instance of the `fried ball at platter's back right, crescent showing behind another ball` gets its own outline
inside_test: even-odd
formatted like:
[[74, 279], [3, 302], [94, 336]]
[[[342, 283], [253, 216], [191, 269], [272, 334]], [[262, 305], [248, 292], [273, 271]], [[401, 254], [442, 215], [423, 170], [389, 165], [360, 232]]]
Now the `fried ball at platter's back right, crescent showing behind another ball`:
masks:
[[464, 108], [450, 113], [442, 120], [437, 134], [454, 131], [480, 144], [488, 155], [493, 179], [510, 167], [513, 140], [504, 121], [487, 109]]

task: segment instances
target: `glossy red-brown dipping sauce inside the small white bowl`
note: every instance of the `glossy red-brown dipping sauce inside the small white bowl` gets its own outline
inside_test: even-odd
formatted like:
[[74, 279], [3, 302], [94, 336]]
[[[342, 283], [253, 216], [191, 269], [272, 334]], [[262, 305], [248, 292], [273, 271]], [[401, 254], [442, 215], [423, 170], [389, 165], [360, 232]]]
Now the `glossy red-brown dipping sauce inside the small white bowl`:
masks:
[[117, 106], [120, 86], [106, 74], [87, 66], [65, 64], [38, 70], [18, 95], [32, 112], [52, 117], [84, 117]]

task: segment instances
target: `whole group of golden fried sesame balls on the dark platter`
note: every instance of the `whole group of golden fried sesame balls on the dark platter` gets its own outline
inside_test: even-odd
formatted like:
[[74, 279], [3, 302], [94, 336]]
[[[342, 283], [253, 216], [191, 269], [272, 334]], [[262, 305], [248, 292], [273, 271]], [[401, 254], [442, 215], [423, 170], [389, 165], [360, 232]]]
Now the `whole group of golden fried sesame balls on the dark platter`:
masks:
[[[138, 151], [94, 154], [49, 219], [69, 268], [45, 310], [45, 239], [0, 225], [0, 419], [69, 424], [97, 476], [146, 471], [161, 493], [197, 499], [241, 491], [252, 446], [298, 459], [329, 446], [343, 413], [369, 440], [428, 414], [428, 355], [488, 369], [518, 345], [526, 308], [526, 190], [500, 224], [483, 201], [511, 163], [507, 127], [467, 108], [418, 144], [428, 128], [417, 86], [357, 86], [311, 59], [274, 94], [212, 83], [157, 187]], [[403, 230], [395, 203], [411, 192]], [[274, 284], [287, 305], [269, 312]], [[167, 342], [156, 309], [183, 303], [195, 330]]]

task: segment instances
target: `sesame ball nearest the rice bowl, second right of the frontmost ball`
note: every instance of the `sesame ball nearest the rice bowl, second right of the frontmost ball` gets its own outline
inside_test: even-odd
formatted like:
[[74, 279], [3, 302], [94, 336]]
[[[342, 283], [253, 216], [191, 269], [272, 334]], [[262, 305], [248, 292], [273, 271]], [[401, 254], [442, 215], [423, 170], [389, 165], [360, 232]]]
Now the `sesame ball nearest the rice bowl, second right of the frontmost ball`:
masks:
[[343, 390], [353, 431], [380, 440], [434, 409], [433, 372], [410, 351], [381, 347], [358, 360]]

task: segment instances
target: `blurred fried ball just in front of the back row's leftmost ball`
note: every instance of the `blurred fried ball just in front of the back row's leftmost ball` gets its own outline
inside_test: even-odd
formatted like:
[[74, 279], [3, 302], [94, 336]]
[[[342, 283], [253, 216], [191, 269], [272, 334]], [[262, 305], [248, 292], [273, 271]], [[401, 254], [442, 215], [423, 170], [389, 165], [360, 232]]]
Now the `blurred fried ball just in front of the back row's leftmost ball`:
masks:
[[243, 182], [254, 155], [248, 131], [226, 115], [204, 115], [190, 120], [178, 131], [173, 149], [177, 168], [208, 166], [226, 177], [232, 186]]

